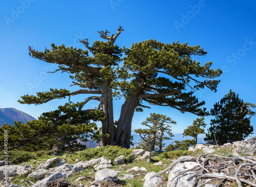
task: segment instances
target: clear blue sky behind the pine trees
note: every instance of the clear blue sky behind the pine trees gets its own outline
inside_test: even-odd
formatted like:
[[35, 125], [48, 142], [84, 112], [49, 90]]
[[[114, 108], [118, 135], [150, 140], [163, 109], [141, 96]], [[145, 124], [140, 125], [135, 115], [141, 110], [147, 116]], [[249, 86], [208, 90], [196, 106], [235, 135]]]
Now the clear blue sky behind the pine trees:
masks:
[[[121, 25], [124, 31], [116, 44], [130, 47], [134, 42], [156, 39], [163, 43], [179, 41], [204, 47], [208, 54], [198, 59], [201, 64], [212, 61], [212, 68], [221, 68], [223, 75], [216, 93], [207, 89], [196, 96], [206, 102], [209, 111], [232, 89], [246, 102], [255, 99], [256, 54], [255, 1], [40, 1], [20, 0], [0, 3], [0, 108], [16, 108], [33, 117], [55, 110], [67, 100], [55, 100], [42, 105], [17, 102], [20, 96], [48, 91], [50, 88], [67, 88], [72, 80], [66, 73], [46, 73], [54, 66], [31, 58], [28, 46], [44, 50], [51, 43], [77, 48], [85, 47], [78, 39], [88, 38], [92, 44], [101, 40], [97, 31], [107, 29], [116, 33]], [[73, 102], [86, 96], [77, 96]], [[115, 102], [115, 119], [119, 117], [123, 100]], [[89, 102], [94, 108], [96, 102]], [[173, 132], [183, 132], [197, 116], [163, 107], [152, 106], [143, 113], [135, 113], [133, 129], [150, 113], [160, 113], [177, 122]], [[205, 122], [209, 127], [210, 119]], [[256, 117], [251, 124], [256, 130]], [[255, 132], [254, 130], [254, 132]]]

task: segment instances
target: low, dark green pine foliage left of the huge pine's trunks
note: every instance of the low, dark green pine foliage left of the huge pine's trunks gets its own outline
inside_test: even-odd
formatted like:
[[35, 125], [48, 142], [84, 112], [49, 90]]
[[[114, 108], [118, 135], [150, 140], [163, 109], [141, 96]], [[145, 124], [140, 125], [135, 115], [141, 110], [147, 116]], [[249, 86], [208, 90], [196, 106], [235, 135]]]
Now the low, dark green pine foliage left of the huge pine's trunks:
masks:
[[59, 106], [58, 110], [43, 113], [38, 120], [28, 121], [26, 124], [15, 121], [13, 126], [3, 124], [0, 127], [0, 141], [4, 142], [4, 133], [7, 131], [9, 150], [38, 151], [60, 146], [59, 140], [65, 136], [66, 150], [83, 149], [85, 146], [77, 143], [78, 139], [99, 141], [101, 137], [96, 123], [90, 120], [102, 120], [105, 116], [99, 110], [79, 112], [78, 109], [82, 106], [83, 103], [66, 103]]

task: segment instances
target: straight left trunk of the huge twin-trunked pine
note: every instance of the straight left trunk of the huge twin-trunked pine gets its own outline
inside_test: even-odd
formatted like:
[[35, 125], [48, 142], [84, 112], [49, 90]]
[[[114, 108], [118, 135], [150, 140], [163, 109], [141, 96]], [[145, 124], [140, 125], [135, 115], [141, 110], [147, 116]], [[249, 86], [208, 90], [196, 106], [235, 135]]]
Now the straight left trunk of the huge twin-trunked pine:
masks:
[[113, 97], [112, 89], [109, 88], [109, 81], [106, 80], [101, 86], [101, 103], [102, 110], [106, 119], [102, 121], [102, 133], [108, 134], [109, 137], [102, 138], [102, 145], [115, 145], [115, 131], [114, 131], [114, 118], [113, 118]]

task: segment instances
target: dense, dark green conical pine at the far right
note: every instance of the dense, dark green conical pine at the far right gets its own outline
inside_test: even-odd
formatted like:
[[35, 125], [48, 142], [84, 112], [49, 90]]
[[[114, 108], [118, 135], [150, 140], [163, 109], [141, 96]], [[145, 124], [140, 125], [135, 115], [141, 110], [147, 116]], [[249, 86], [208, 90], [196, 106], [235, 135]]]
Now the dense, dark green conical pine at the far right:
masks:
[[218, 144], [224, 144], [244, 140], [253, 131], [250, 117], [255, 112], [251, 111], [249, 106], [254, 107], [254, 104], [244, 102], [230, 90], [210, 110], [215, 118], [210, 122], [211, 126], [206, 133], [205, 141], [216, 140]]

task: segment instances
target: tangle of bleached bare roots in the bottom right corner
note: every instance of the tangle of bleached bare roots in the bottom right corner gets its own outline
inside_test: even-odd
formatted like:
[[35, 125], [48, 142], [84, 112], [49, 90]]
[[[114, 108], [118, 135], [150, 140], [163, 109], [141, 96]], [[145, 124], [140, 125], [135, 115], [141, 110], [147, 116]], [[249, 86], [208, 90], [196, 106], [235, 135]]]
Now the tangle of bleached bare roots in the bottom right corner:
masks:
[[256, 162], [247, 157], [226, 157], [215, 154], [201, 154], [198, 157], [193, 156], [181, 156], [174, 163], [172, 163], [165, 170], [156, 173], [152, 177], [162, 175], [163, 173], [169, 173], [178, 163], [186, 161], [197, 162], [198, 166], [194, 168], [180, 172], [172, 180], [185, 175], [190, 171], [198, 171], [192, 177], [198, 177], [197, 187], [201, 187], [207, 183], [217, 180], [215, 186], [218, 187], [221, 183], [226, 181], [236, 181], [239, 187], [242, 187], [242, 183], [249, 184], [256, 187]]

